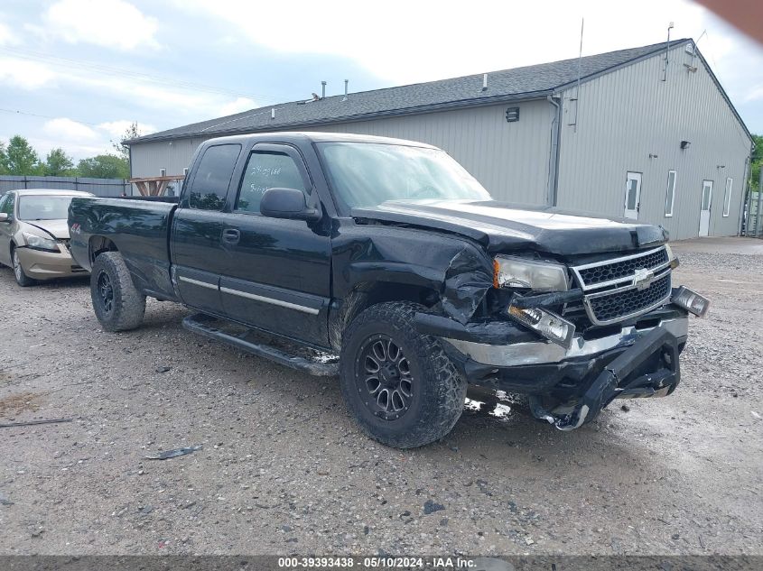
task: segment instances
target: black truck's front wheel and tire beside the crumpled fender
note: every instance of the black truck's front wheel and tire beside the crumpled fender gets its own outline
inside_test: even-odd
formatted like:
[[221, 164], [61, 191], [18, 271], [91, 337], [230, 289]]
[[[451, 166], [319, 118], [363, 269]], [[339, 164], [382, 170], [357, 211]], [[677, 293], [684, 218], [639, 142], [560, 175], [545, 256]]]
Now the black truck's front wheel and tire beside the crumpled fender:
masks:
[[433, 336], [415, 331], [410, 302], [363, 311], [342, 335], [342, 394], [360, 428], [389, 447], [421, 447], [461, 417], [467, 383]]

